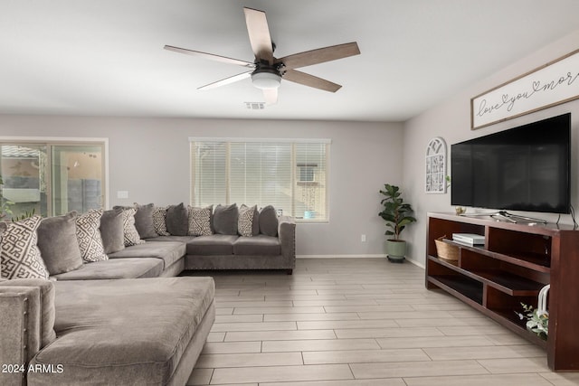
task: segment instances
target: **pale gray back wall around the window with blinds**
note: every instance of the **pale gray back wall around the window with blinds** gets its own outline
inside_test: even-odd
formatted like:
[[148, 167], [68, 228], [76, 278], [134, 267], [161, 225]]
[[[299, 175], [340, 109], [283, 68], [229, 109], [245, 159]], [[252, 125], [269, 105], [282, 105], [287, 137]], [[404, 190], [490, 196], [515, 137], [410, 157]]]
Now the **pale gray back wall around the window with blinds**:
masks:
[[298, 225], [299, 255], [383, 254], [378, 191], [402, 184], [402, 124], [0, 115], [6, 136], [108, 137], [110, 206], [189, 202], [188, 137], [331, 138], [330, 221]]

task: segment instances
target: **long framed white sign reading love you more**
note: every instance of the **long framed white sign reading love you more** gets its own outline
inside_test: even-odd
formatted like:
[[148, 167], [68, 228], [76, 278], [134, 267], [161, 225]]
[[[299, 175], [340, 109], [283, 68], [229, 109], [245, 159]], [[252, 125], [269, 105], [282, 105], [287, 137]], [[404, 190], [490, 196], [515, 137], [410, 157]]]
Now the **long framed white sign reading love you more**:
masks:
[[579, 99], [579, 50], [470, 99], [472, 130]]

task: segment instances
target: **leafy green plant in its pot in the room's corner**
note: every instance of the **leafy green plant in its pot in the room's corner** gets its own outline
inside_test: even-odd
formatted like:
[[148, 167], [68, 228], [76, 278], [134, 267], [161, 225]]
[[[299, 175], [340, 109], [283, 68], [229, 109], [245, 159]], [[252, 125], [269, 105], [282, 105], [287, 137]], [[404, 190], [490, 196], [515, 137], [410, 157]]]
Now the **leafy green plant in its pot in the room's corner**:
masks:
[[400, 233], [416, 221], [412, 216], [413, 208], [410, 203], [403, 202], [400, 188], [391, 184], [384, 184], [382, 203], [383, 210], [378, 215], [386, 221], [386, 236], [394, 236], [386, 240], [386, 254], [392, 262], [402, 263], [406, 255], [406, 241], [400, 239]]

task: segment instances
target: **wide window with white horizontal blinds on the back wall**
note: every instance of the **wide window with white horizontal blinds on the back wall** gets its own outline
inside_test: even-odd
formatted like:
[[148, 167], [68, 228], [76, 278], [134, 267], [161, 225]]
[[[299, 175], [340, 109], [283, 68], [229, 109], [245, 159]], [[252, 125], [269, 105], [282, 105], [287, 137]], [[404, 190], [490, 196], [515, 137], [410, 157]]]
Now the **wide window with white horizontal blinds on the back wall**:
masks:
[[330, 141], [190, 138], [191, 204], [271, 204], [301, 221], [327, 221]]

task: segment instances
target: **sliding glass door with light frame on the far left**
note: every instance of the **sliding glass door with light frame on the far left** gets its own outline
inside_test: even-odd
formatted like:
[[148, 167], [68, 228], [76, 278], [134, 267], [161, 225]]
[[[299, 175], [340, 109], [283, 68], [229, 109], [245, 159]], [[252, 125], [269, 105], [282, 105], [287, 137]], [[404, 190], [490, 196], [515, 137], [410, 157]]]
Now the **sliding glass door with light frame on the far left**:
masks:
[[0, 140], [0, 203], [7, 219], [101, 208], [104, 182], [104, 141]]

